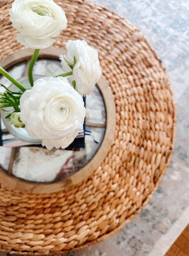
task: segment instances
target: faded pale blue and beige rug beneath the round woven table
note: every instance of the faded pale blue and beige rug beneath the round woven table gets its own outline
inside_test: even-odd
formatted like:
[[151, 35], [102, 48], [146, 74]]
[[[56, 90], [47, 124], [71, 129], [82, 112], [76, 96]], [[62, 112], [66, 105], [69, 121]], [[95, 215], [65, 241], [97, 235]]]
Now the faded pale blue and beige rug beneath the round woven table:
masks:
[[171, 78], [177, 132], [171, 164], [140, 216], [102, 243], [65, 256], [163, 256], [188, 223], [189, 5], [186, 0], [95, 0], [138, 27]]

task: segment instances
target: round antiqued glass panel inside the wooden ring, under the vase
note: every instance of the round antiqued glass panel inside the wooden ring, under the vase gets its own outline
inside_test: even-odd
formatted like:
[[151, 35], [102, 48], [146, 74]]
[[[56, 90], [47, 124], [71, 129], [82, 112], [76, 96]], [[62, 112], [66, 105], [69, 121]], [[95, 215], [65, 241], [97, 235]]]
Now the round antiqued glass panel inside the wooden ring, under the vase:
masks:
[[[21, 62], [8, 72], [17, 80], [26, 77], [28, 63]], [[39, 59], [34, 66], [36, 77], [56, 76], [60, 73], [60, 61], [55, 59]], [[0, 83], [7, 87], [11, 84], [3, 76], [0, 77]], [[3, 88], [0, 91], [3, 92]], [[40, 144], [23, 142], [14, 137], [8, 133], [1, 119], [0, 167], [22, 180], [40, 183], [60, 181], [81, 170], [95, 155], [105, 134], [105, 104], [97, 86], [91, 95], [86, 96], [86, 109], [85, 135], [81, 131], [71, 146], [51, 151]]]

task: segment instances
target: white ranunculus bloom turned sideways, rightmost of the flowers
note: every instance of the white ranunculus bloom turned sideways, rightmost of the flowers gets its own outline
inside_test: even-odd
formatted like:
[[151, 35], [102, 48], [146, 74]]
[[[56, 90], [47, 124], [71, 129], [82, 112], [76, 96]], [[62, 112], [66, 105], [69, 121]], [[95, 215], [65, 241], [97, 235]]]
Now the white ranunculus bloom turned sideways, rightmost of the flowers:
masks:
[[66, 50], [60, 59], [64, 72], [73, 70], [68, 80], [73, 86], [76, 82], [75, 89], [81, 96], [92, 93], [102, 75], [97, 50], [84, 40], [68, 40]]

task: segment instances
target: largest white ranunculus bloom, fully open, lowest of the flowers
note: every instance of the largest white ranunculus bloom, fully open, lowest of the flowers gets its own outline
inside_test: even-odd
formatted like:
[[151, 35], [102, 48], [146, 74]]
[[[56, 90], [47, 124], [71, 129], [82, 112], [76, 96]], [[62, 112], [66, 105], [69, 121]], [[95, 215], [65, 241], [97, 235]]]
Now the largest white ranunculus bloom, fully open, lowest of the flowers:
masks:
[[48, 149], [66, 148], [81, 129], [86, 110], [83, 98], [63, 77], [44, 77], [20, 99], [21, 120], [33, 138]]

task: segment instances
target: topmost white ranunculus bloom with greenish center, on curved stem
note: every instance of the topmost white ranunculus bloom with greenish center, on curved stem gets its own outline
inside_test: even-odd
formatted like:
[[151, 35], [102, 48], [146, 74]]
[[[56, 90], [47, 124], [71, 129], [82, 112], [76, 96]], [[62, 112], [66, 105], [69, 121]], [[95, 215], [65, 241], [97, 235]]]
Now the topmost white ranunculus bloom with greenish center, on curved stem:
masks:
[[9, 14], [18, 42], [32, 49], [51, 46], [67, 27], [65, 12], [53, 0], [15, 0]]

